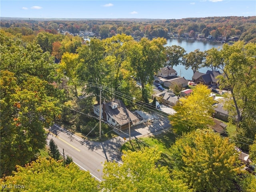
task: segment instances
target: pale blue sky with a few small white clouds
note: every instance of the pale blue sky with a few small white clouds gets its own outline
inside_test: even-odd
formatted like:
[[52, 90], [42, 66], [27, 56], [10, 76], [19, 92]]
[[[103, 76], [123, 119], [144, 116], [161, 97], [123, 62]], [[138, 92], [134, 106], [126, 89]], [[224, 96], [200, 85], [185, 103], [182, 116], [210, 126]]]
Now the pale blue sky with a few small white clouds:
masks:
[[256, 0], [1, 0], [0, 16], [152, 19], [256, 16]]

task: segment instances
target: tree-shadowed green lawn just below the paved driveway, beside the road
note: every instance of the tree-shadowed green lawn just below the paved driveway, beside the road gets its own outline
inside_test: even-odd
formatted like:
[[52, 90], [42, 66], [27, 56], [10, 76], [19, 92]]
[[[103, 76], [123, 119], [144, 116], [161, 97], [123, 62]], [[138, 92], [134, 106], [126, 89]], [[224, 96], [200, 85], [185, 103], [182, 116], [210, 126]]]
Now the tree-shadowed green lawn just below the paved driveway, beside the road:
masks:
[[160, 160], [160, 163], [168, 166], [170, 165], [170, 146], [175, 142], [176, 137], [177, 135], [168, 130], [156, 136], [143, 137], [140, 138], [140, 140], [131, 140], [131, 143], [126, 142], [122, 146], [121, 150], [137, 151], [146, 146], [157, 146], [159, 151], [162, 152], [162, 159]]

